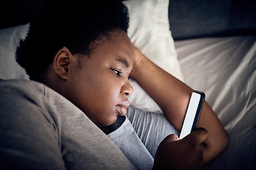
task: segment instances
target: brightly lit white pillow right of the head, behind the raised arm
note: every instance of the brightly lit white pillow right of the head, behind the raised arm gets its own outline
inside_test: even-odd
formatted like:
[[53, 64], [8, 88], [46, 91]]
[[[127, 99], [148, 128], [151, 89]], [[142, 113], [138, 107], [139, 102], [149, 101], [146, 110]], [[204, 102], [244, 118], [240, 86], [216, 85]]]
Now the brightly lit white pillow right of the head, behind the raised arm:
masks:
[[[152, 62], [183, 81], [174, 39], [169, 30], [169, 0], [129, 0], [129, 38]], [[159, 106], [137, 84], [130, 80], [134, 93], [129, 96], [131, 106], [144, 111], [161, 112]]]

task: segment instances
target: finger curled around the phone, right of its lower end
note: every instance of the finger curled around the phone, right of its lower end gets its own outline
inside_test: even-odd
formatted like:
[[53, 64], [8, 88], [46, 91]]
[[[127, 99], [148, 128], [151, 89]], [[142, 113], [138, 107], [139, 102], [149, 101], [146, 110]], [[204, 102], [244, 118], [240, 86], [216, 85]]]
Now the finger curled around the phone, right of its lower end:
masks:
[[191, 134], [184, 137], [184, 140], [191, 140], [195, 145], [200, 145], [208, 137], [208, 131], [204, 128], [197, 128]]

